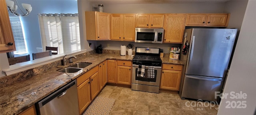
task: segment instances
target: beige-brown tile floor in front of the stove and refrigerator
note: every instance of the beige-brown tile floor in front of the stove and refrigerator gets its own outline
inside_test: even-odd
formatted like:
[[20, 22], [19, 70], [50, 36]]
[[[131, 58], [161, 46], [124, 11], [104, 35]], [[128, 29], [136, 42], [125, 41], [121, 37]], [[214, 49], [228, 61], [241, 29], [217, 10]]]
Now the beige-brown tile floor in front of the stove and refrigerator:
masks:
[[116, 99], [109, 115], [216, 115], [218, 108], [207, 103], [206, 107], [196, 107], [196, 101], [182, 100], [174, 93], [148, 93], [110, 85], [98, 96]]

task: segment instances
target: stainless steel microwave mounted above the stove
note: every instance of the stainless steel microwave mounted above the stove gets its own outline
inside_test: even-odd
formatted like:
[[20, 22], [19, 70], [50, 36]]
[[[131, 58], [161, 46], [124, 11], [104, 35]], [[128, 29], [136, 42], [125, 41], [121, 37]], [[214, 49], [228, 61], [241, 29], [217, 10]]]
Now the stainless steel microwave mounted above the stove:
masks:
[[135, 28], [135, 42], [163, 43], [163, 28]]

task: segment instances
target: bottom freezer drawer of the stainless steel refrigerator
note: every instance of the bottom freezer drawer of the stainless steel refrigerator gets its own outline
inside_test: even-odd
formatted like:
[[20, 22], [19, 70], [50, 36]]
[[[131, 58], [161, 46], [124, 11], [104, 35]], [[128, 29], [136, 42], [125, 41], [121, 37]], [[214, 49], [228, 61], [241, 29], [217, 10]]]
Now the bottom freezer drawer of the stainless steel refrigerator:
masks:
[[218, 101], [215, 91], [221, 91], [223, 78], [185, 75], [181, 97]]

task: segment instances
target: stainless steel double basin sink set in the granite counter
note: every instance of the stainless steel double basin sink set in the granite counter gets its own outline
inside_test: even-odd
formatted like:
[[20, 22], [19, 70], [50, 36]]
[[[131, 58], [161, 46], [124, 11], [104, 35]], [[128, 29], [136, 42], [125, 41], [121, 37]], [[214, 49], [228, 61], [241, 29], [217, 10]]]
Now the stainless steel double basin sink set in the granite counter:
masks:
[[70, 67], [60, 69], [58, 72], [64, 72], [64, 73], [75, 73], [84, 67], [87, 67], [88, 65], [91, 65], [92, 63], [90, 62], [79, 62], [74, 65], [71, 65]]

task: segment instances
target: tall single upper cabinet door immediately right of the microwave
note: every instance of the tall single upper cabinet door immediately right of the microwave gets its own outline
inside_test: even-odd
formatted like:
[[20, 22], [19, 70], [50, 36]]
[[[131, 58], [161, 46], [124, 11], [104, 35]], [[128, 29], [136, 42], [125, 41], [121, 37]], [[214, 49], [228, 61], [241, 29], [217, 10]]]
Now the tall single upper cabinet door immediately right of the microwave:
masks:
[[164, 43], [182, 43], [186, 14], [167, 14], [164, 24]]

